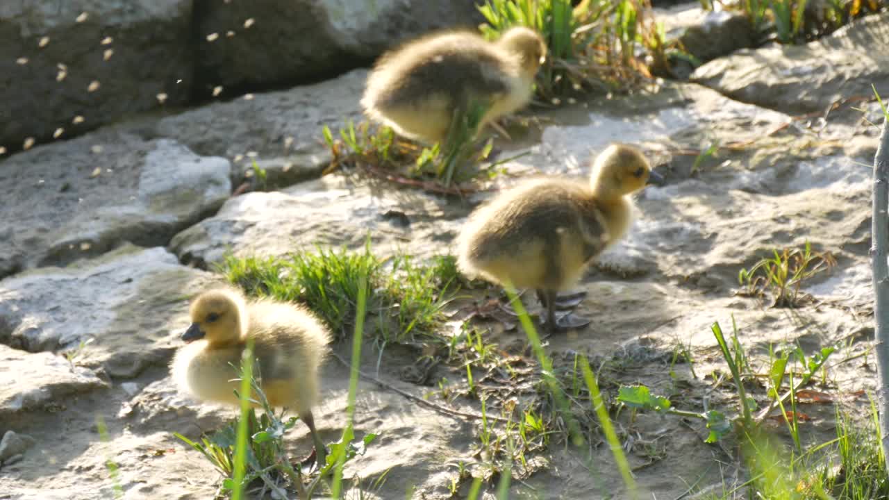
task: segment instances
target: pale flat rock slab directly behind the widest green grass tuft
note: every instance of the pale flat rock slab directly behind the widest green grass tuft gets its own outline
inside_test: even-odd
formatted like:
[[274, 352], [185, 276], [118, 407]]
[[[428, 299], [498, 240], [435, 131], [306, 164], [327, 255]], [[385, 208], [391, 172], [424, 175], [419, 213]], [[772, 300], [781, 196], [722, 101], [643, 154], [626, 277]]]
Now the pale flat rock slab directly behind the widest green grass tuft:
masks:
[[[177, 234], [172, 251], [184, 262], [220, 262], [236, 255], [284, 255], [315, 245], [402, 250], [420, 257], [447, 252], [469, 207], [393, 185], [374, 188], [340, 175], [325, 176], [276, 192], [231, 198], [219, 214]], [[406, 218], [407, 224], [404, 224]]]

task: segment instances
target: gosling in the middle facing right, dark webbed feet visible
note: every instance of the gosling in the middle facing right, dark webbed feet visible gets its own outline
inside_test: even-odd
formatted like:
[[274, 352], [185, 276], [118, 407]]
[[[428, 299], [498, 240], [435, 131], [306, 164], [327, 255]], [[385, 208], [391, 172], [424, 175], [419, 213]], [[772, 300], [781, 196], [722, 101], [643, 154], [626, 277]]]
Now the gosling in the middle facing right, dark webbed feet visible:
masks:
[[[534, 288], [550, 333], [589, 325], [556, 319], [557, 291], [573, 286], [632, 222], [629, 195], [662, 181], [637, 149], [613, 144], [593, 162], [590, 184], [535, 179], [480, 206], [458, 238], [461, 270], [505, 286]], [[573, 315], [571, 315], [573, 316]]]

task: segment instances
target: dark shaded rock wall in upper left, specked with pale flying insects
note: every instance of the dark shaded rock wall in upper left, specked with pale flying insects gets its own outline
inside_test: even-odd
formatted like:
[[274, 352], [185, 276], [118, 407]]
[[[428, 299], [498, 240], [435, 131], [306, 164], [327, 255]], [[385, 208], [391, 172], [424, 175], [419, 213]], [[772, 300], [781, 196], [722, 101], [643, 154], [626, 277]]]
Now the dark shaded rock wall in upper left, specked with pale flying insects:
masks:
[[28, 149], [150, 109], [331, 77], [406, 38], [476, 26], [475, 4], [4, 2], [0, 147]]

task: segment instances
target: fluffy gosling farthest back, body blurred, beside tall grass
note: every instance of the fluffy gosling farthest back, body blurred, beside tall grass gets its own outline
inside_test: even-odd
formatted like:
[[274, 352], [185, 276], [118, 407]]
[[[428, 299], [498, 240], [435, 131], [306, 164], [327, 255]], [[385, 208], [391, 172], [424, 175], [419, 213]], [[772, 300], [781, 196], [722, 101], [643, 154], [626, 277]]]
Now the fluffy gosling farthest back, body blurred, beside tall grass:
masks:
[[361, 105], [405, 137], [442, 142], [471, 105], [489, 106], [480, 130], [531, 101], [546, 51], [543, 38], [523, 27], [493, 43], [469, 31], [423, 36], [380, 57]]

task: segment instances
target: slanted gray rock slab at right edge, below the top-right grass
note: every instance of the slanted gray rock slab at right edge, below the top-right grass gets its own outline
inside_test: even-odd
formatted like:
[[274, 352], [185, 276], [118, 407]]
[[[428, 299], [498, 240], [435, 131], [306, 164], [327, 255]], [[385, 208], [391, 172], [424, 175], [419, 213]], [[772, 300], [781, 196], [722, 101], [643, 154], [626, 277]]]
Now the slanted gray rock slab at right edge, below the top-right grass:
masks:
[[871, 84], [887, 95], [889, 12], [855, 20], [809, 44], [735, 52], [696, 69], [692, 80], [738, 101], [795, 114], [872, 96]]

